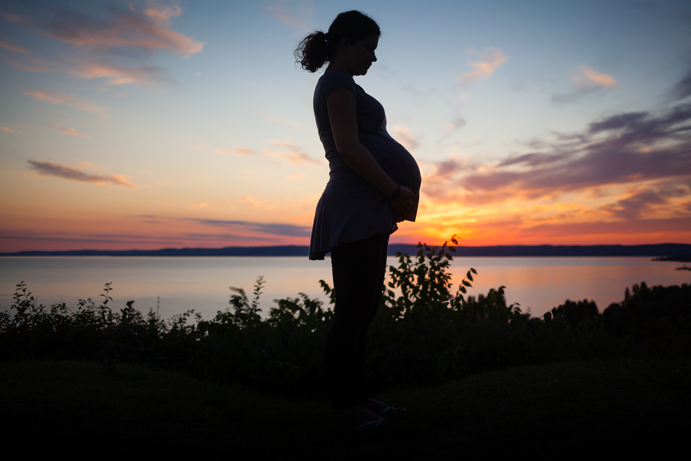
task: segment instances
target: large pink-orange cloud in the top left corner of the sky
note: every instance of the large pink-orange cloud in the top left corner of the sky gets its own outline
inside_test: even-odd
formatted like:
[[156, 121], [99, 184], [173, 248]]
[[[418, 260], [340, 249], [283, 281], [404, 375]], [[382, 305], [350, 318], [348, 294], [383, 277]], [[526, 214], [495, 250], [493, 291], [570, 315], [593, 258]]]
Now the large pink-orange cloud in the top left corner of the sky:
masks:
[[[85, 79], [104, 79], [105, 84], [140, 84], [149, 88], [174, 83], [167, 68], [151, 63], [152, 52], [163, 50], [189, 57], [200, 53], [204, 44], [171, 28], [171, 19], [182, 14], [178, 5], [162, 5], [146, 0], [128, 3], [129, 8], [101, 3], [91, 13], [56, 6], [44, 13], [49, 37], [68, 44], [77, 54], [61, 57], [52, 64], [25, 57], [12, 61], [17, 70], [33, 73], [65, 72]], [[0, 42], [0, 46], [28, 55], [30, 50]], [[40, 53], [40, 50], [36, 50]], [[144, 64], [144, 65], [142, 65]]]

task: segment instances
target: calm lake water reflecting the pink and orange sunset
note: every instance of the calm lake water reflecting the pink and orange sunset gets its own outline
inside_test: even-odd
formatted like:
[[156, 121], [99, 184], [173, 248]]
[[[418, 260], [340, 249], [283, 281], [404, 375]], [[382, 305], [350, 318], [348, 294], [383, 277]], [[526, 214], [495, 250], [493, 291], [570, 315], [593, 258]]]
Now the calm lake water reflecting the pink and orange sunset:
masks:
[[[395, 265], [395, 258], [389, 264]], [[539, 316], [565, 299], [593, 299], [603, 310], [623, 299], [625, 288], [645, 281], [648, 285], [691, 283], [691, 272], [674, 270], [681, 263], [650, 258], [454, 258], [451, 273], [457, 287], [469, 267], [477, 270], [468, 294], [486, 293], [506, 286], [509, 303], [518, 302]], [[250, 294], [254, 281], [264, 276], [261, 307], [267, 313], [273, 299], [296, 297], [304, 292], [325, 299], [319, 279], [332, 284], [331, 265], [301, 257], [219, 258], [112, 258], [28, 257], [0, 258], [0, 310], [12, 304], [15, 285], [25, 281], [40, 303], [64, 301], [74, 308], [77, 299], [100, 299], [103, 285], [113, 282], [113, 305], [155, 308], [160, 298], [163, 317], [194, 308], [210, 319], [229, 307], [230, 286]], [[455, 290], [455, 289], [454, 289]]]

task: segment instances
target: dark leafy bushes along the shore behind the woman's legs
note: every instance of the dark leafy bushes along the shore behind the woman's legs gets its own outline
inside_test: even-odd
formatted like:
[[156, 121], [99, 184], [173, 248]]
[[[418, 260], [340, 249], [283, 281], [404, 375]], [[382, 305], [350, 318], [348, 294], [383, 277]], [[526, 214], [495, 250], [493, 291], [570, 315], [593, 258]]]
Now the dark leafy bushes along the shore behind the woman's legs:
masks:
[[[519, 305], [507, 305], [503, 287], [466, 298], [473, 269], [452, 292], [453, 246], [418, 247], [414, 258], [397, 255], [370, 328], [369, 369], [377, 386], [433, 384], [518, 364], [691, 350], [690, 285], [649, 289], [641, 283], [603, 314], [593, 301], [567, 300], [531, 318]], [[263, 319], [263, 283], [260, 277], [252, 300], [232, 288], [232, 309], [208, 321], [193, 310], [170, 320], [158, 310], [142, 314], [134, 301], [113, 312], [110, 283], [99, 305], [88, 299], [74, 312], [64, 303], [46, 308], [20, 283], [10, 311], [0, 314], [0, 360], [88, 359], [109, 369], [135, 362], [267, 390], [325, 391], [323, 343], [332, 311], [299, 294], [275, 300]], [[333, 302], [334, 290], [320, 283]]]

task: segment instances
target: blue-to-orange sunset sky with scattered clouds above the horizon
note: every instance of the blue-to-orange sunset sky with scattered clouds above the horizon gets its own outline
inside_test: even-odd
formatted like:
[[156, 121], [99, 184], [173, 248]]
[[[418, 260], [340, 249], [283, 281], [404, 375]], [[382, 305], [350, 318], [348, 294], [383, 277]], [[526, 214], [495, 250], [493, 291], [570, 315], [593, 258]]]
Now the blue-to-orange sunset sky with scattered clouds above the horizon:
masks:
[[0, 252], [308, 245], [339, 12], [422, 171], [392, 243], [691, 243], [687, 1], [3, 1]]

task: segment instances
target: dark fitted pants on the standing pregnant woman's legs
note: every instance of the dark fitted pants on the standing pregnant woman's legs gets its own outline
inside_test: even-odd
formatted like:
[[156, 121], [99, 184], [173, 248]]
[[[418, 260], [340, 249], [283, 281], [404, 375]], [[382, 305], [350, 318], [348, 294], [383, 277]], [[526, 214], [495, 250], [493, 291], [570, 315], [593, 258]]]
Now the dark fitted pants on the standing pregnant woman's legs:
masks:
[[334, 410], [369, 398], [367, 330], [379, 309], [389, 234], [341, 243], [331, 249], [336, 306], [324, 344], [324, 364]]

